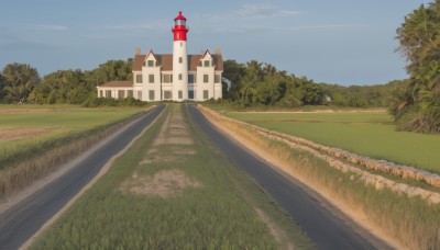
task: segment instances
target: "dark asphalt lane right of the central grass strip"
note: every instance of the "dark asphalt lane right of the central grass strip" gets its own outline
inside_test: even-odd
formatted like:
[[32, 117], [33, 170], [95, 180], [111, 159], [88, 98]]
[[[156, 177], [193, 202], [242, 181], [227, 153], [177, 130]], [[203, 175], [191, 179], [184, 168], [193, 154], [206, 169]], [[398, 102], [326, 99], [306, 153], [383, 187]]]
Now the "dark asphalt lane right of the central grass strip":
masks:
[[200, 129], [233, 164], [253, 178], [295, 218], [318, 249], [391, 249], [383, 240], [354, 225], [319, 194], [226, 137], [196, 107], [187, 106], [190, 118]]

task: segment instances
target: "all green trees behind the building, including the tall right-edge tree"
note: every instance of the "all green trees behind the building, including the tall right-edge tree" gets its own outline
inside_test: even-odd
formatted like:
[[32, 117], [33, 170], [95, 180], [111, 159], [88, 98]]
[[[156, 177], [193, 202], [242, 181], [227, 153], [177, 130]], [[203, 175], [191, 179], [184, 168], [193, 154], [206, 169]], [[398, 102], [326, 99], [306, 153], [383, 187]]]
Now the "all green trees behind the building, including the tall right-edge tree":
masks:
[[[224, 61], [223, 102], [239, 107], [332, 105], [386, 107], [398, 129], [440, 133], [440, 0], [421, 4], [397, 29], [398, 52], [407, 59], [408, 79], [375, 86], [338, 86], [297, 77], [274, 65]], [[58, 70], [41, 78], [26, 64], [9, 64], [0, 72], [0, 103], [142, 105], [134, 99], [101, 100], [96, 87], [131, 80], [133, 59], [109, 60], [92, 70]]]

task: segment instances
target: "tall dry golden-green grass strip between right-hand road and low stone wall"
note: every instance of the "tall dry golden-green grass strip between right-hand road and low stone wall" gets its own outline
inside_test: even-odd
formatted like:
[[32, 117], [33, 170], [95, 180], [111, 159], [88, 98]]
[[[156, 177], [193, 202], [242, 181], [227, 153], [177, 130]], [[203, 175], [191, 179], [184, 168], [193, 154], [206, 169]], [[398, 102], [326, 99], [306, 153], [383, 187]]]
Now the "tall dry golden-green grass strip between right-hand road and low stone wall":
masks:
[[381, 234], [409, 249], [438, 249], [440, 246], [440, 204], [430, 204], [419, 196], [407, 197], [386, 188], [376, 190], [365, 184], [360, 175], [336, 170], [308, 152], [271, 140], [249, 127], [207, 115], [222, 128], [233, 130], [238, 139], [268, 152], [283, 171], [366, 218]]

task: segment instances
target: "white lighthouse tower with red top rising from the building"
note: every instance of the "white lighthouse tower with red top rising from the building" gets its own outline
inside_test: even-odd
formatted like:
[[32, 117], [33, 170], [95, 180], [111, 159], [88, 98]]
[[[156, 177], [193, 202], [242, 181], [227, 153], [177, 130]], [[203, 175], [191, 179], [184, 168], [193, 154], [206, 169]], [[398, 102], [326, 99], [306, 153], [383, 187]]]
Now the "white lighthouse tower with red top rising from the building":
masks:
[[188, 55], [186, 52], [186, 18], [182, 11], [174, 19], [174, 48], [173, 48], [173, 100], [184, 101], [188, 99]]

